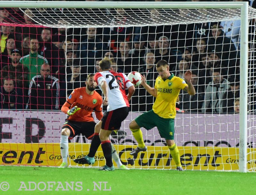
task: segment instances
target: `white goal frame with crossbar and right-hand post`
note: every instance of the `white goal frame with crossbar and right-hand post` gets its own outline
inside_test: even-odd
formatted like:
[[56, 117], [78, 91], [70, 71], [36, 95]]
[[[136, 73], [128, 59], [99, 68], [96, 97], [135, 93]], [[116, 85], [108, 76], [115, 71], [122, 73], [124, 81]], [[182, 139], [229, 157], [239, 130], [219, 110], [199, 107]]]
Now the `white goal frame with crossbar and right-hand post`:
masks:
[[[249, 8], [248, 2], [76, 2], [76, 1], [0, 1], [0, 7], [2, 8], [131, 8], [131, 9], [230, 9], [231, 13], [234, 12], [234, 17], [228, 15], [227, 19], [241, 19], [241, 31], [240, 31], [240, 117], [239, 117], [239, 171], [247, 171], [247, 104], [248, 104], [248, 20], [250, 19], [250, 13], [252, 13], [252, 8]], [[240, 11], [240, 13], [239, 13]], [[201, 19], [196, 19], [193, 23], [198, 21], [207, 22], [213, 21], [214, 19], [209, 16], [207, 19], [207, 14], [204, 13], [204, 17]], [[225, 11], [221, 16], [224, 17]], [[240, 15], [240, 16], [239, 16]], [[166, 17], [164, 14], [162, 17]], [[239, 18], [240, 17], [240, 18]], [[253, 16], [256, 18], [256, 15]], [[251, 18], [253, 18], [251, 16]], [[146, 25], [160, 25], [158, 22], [152, 22], [145, 20], [143, 17], [138, 17], [131, 23], [127, 23], [124, 26], [141, 26], [143, 22], [148, 22]], [[218, 16], [215, 18], [218, 21]], [[36, 20], [36, 22], [42, 26], [48, 27], [60, 27], [58, 24], [54, 24], [51, 20]], [[186, 21], [185, 19], [180, 19], [180, 21], [168, 21], [168, 24], [189, 24], [191, 21]], [[164, 24], [164, 21], [161, 23]], [[102, 23], [97, 25], [81, 24], [81, 23], [68, 23], [63, 25], [66, 28], [76, 28], [76, 27], [104, 27], [104, 26], [118, 26], [117, 24]]]

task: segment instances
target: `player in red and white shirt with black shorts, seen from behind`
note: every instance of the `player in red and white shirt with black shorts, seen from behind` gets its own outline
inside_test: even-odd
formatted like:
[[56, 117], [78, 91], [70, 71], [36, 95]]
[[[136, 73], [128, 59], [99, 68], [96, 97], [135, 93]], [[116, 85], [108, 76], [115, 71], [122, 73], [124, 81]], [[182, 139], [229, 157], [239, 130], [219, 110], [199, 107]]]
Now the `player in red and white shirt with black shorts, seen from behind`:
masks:
[[[129, 113], [129, 101], [135, 91], [135, 87], [123, 73], [114, 72], [111, 69], [111, 62], [104, 58], [100, 61], [100, 72], [94, 76], [94, 80], [104, 95], [103, 105], [107, 111], [101, 119], [100, 141], [101, 148], [106, 159], [106, 165], [100, 170], [115, 170], [111, 157], [111, 143], [109, 135], [113, 130], [119, 130], [122, 121]], [[128, 88], [126, 95], [125, 88]]]

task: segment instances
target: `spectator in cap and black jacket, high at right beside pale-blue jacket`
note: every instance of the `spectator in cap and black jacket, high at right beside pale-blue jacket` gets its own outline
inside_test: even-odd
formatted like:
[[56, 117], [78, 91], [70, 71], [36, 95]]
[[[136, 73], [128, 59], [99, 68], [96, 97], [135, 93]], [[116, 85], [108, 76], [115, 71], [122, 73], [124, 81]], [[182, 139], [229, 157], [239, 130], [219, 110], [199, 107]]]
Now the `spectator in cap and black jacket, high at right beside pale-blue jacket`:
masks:
[[236, 64], [237, 51], [236, 47], [228, 37], [224, 36], [221, 26], [212, 26], [212, 37], [208, 41], [208, 49], [210, 51], [219, 51], [221, 65], [225, 67], [232, 67]]

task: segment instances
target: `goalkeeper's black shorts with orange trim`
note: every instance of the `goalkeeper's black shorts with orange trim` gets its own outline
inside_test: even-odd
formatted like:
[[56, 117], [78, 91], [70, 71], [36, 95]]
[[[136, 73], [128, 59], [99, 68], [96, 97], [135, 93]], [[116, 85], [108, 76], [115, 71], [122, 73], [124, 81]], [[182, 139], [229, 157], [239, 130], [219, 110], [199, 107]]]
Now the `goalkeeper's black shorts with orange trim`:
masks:
[[68, 139], [73, 139], [76, 135], [82, 133], [87, 139], [92, 139], [94, 136], [94, 127], [96, 123], [92, 122], [77, 122], [66, 120], [63, 124], [62, 129], [68, 128], [70, 130], [70, 135]]

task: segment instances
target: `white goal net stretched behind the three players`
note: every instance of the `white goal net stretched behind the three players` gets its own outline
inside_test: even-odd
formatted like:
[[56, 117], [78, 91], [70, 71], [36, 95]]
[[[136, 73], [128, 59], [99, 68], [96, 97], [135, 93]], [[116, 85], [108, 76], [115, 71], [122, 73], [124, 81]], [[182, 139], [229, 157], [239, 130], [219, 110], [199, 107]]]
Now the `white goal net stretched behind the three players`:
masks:
[[[166, 60], [170, 72], [182, 79], [192, 71], [196, 94], [181, 90], [176, 102], [174, 140], [184, 169], [239, 170], [240, 148], [245, 171], [255, 170], [255, 9], [249, 7], [248, 16], [241, 17], [244, 3], [237, 2], [79, 2], [76, 8], [70, 2], [19, 3], [19, 8], [2, 2], [0, 164], [61, 164], [60, 131], [66, 116], [60, 108], [106, 57], [113, 70], [126, 75], [138, 71], [152, 87], [159, 60]], [[137, 87], [121, 126], [127, 135], [111, 137], [129, 168], [175, 168], [156, 128], [142, 128], [147, 152], [129, 154], [137, 144], [129, 123], [152, 109], [154, 100]], [[239, 146], [242, 131], [245, 148]], [[70, 166], [79, 166], [73, 160], [89, 152], [90, 140], [78, 135], [69, 142]], [[101, 149], [95, 158], [93, 166], [105, 164]]]

